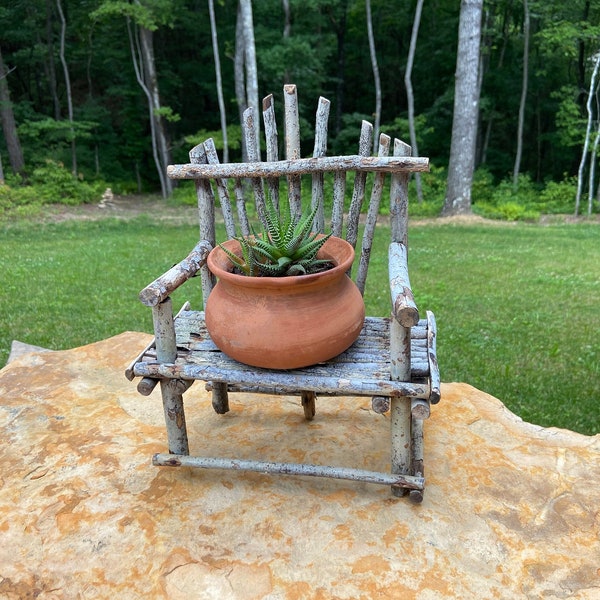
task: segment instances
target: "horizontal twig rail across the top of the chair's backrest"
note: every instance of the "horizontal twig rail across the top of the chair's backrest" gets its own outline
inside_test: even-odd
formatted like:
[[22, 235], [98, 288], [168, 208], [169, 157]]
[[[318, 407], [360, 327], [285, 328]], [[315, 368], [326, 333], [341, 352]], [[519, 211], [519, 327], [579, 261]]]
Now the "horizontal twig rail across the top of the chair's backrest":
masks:
[[254, 163], [169, 165], [171, 179], [220, 179], [226, 177], [286, 177], [335, 171], [399, 173], [429, 171], [429, 159], [421, 156], [321, 156]]

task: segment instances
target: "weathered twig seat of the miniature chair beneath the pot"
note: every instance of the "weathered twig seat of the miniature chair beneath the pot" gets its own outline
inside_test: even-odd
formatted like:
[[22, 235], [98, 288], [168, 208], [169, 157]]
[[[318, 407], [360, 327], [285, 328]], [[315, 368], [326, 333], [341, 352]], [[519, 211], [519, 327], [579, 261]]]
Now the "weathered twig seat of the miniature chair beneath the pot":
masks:
[[[432, 331], [433, 329], [433, 331]], [[182, 310], [175, 318], [177, 359], [160, 364], [150, 346], [132, 365], [133, 375], [202, 380], [228, 384], [231, 391], [320, 395], [404, 396], [431, 399], [435, 360], [435, 320], [431, 313], [411, 329], [411, 381], [392, 381], [390, 319], [367, 317], [357, 341], [339, 356], [317, 365], [287, 371], [243, 365], [221, 352], [210, 338], [202, 311]]]

